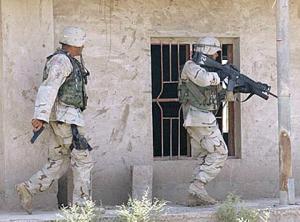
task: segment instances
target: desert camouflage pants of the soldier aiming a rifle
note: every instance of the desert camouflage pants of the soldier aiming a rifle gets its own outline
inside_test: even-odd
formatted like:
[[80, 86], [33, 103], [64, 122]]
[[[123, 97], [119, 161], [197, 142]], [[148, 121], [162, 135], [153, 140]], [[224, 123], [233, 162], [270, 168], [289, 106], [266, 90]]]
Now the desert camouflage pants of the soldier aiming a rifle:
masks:
[[206, 184], [214, 179], [227, 159], [227, 146], [217, 124], [186, 127], [191, 137], [193, 157], [199, 161], [193, 180]]

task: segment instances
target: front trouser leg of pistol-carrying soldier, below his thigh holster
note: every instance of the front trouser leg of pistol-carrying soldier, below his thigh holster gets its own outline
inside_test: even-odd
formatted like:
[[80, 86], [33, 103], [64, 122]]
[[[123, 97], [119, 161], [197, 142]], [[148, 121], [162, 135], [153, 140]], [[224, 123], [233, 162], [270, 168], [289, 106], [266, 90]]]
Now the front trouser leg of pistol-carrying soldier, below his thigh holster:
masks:
[[[84, 135], [82, 127], [78, 127], [81, 135]], [[73, 149], [71, 152], [71, 166], [73, 171], [73, 204], [82, 204], [91, 199], [91, 170], [94, 166], [89, 150]]]

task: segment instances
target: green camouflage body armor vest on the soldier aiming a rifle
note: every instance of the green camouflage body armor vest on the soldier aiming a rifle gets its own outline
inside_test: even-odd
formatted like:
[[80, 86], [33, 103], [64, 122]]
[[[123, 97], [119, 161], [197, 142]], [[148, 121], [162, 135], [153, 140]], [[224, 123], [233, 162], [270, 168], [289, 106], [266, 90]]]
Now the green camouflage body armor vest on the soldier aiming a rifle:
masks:
[[188, 79], [181, 79], [178, 84], [179, 102], [190, 104], [204, 111], [218, 110], [225, 98], [225, 92], [220, 84], [201, 87]]

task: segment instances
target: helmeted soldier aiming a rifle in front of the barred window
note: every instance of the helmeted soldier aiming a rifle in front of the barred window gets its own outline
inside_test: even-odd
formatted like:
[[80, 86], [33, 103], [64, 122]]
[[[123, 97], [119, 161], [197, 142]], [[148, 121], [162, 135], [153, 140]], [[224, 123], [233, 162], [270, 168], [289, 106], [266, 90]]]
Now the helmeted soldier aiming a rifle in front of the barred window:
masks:
[[[213, 37], [199, 39], [196, 53], [216, 60], [220, 42]], [[223, 79], [222, 79], [223, 80]], [[193, 156], [199, 161], [189, 186], [189, 206], [215, 204], [204, 186], [217, 176], [227, 159], [227, 146], [219, 130], [216, 112], [221, 103], [220, 77], [188, 60], [182, 70], [179, 100], [183, 105], [184, 127], [190, 138]]]

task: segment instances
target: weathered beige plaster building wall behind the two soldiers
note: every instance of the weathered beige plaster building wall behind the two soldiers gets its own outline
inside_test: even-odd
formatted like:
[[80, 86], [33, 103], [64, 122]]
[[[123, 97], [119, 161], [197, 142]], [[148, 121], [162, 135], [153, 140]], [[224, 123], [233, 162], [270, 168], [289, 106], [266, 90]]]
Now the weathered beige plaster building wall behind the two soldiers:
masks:
[[[130, 193], [130, 166], [153, 164], [154, 196], [181, 202], [196, 162], [153, 162], [150, 38], [204, 35], [239, 37], [242, 72], [269, 83], [276, 93], [273, 2], [53, 0], [52, 5], [51, 0], [30, 3], [21, 0], [2, 1], [1, 70], [4, 82], [8, 83], [2, 91], [5, 191], [12, 208], [16, 205], [13, 184], [28, 178], [46, 159], [48, 133], [45, 132], [31, 146], [28, 143], [31, 136], [30, 119], [44, 58], [52, 52], [53, 42], [58, 46], [63, 27], [80, 26], [86, 30], [88, 37], [84, 58], [91, 76], [85, 117], [87, 136], [94, 146], [96, 160], [93, 171], [94, 198], [102, 200], [103, 204], [126, 201]], [[51, 19], [52, 7], [54, 20]], [[297, 181], [300, 179], [300, 152], [296, 149], [300, 142], [297, 138], [300, 130], [300, 116], [297, 114], [300, 67], [296, 55], [300, 48], [297, 42], [300, 37], [297, 28], [300, 23], [300, 3], [291, 0], [290, 10], [292, 144]], [[12, 121], [14, 126], [8, 127]], [[229, 159], [208, 189], [220, 199], [233, 191], [243, 198], [276, 196], [277, 101], [253, 97], [243, 103], [241, 125], [241, 159]], [[298, 193], [299, 188], [296, 182]], [[48, 207], [54, 207], [55, 189], [37, 197], [36, 206], [40, 205], [42, 198], [47, 199]]]

